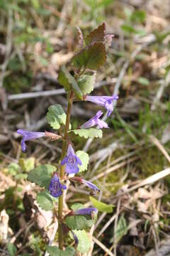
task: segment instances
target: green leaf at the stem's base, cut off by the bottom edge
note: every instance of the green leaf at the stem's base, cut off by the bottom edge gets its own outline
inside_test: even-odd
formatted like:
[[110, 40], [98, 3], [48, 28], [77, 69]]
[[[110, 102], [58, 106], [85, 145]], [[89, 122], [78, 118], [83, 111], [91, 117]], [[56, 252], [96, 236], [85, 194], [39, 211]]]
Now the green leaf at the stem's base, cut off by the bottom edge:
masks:
[[66, 250], [60, 250], [57, 246], [46, 246], [47, 252], [50, 256], [74, 256], [76, 251], [73, 247], [67, 247]]

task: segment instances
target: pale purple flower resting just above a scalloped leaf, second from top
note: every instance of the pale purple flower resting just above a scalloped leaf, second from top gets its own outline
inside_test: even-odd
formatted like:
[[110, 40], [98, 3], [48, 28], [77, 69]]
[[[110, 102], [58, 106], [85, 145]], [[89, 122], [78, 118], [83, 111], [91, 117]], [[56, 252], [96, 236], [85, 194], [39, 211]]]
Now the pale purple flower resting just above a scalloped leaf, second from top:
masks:
[[100, 119], [102, 114], [103, 114], [102, 111], [98, 111], [94, 117], [92, 117], [91, 119], [89, 119], [89, 121], [81, 125], [80, 128], [86, 129], [86, 128], [94, 127], [95, 125], [98, 125], [99, 128], [108, 128], [108, 124], [106, 124], [106, 122]]

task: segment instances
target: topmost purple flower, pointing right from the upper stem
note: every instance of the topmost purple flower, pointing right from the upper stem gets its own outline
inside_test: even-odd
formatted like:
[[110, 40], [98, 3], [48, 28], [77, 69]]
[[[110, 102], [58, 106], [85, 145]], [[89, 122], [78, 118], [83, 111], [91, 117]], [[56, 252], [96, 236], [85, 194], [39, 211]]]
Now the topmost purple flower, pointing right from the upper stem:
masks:
[[110, 116], [111, 112], [113, 112], [113, 100], [118, 100], [118, 95], [113, 96], [86, 96], [84, 100], [94, 102], [97, 105], [101, 105], [106, 107], [108, 110], [108, 117]]

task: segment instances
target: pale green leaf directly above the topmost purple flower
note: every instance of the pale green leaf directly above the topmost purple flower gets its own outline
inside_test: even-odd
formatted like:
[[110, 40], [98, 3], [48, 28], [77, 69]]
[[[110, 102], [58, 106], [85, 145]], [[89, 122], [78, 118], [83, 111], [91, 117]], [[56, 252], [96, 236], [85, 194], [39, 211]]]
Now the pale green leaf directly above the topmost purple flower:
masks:
[[89, 94], [94, 90], [95, 80], [96, 80], [96, 74], [81, 75], [78, 78], [77, 83], [83, 95]]

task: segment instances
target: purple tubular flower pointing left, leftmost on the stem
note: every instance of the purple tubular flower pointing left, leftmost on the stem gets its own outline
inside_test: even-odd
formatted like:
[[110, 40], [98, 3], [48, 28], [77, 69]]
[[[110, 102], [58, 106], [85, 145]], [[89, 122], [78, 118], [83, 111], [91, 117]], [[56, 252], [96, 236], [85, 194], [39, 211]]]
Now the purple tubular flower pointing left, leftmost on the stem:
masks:
[[45, 137], [45, 132], [27, 132], [23, 129], [18, 129], [17, 133], [23, 136], [23, 139], [21, 140], [21, 147], [24, 152], [26, 151], [26, 141]]

